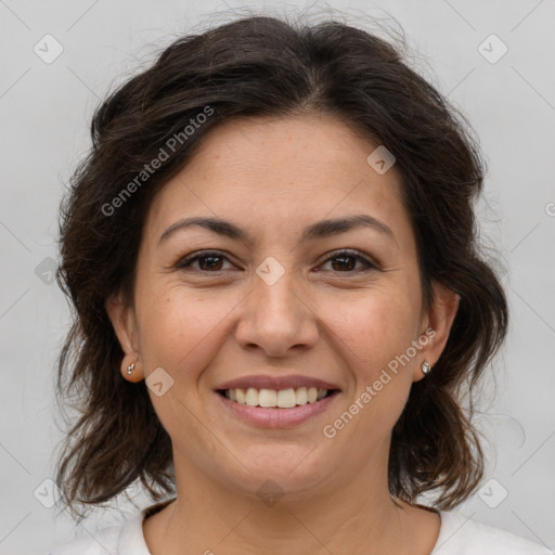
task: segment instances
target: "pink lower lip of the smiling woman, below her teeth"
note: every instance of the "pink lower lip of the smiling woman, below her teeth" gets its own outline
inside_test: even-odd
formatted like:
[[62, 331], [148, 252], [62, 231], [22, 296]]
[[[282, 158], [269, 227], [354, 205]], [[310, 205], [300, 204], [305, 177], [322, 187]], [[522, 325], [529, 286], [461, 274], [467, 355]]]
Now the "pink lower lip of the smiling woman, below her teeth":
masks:
[[336, 391], [328, 397], [324, 397], [315, 403], [300, 404], [292, 409], [248, 406], [247, 404], [232, 401], [218, 392], [216, 395], [233, 414], [249, 424], [263, 428], [291, 428], [325, 411], [334, 402], [338, 392]]

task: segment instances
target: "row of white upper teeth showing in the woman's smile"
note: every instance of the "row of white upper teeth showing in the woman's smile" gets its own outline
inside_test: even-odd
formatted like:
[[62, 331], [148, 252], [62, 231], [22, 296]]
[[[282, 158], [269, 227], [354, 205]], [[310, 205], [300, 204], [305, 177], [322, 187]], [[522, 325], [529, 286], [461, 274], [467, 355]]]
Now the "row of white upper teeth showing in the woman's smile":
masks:
[[327, 395], [327, 389], [317, 387], [298, 387], [297, 389], [255, 389], [241, 387], [227, 389], [225, 397], [232, 401], [249, 406], [279, 406], [291, 409], [297, 404], [315, 403]]

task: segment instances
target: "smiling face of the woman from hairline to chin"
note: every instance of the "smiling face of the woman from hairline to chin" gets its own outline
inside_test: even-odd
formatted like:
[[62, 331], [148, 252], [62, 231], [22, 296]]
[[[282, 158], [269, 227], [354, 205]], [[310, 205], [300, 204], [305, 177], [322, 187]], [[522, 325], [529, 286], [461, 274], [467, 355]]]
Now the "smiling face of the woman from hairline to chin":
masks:
[[[391, 429], [456, 302], [424, 310], [399, 173], [366, 162], [376, 146], [315, 115], [230, 121], [154, 199], [134, 306], [108, 311], [171, 437], [178, 483], [196, 473], [301, 495], [364, 469], [385, 477]], [[247, 402], [284, 406], [225, 398], [242, 378]], [[302, 405], [317, 380], [335, 392]]]

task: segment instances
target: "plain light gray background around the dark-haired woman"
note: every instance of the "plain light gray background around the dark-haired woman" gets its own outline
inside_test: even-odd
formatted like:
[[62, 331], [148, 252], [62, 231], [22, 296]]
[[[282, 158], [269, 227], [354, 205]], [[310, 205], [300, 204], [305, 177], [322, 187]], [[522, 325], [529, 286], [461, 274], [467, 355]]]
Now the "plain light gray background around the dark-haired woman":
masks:
[[[59, 202], [89, 146], [99, 100], [180, 33], [228, 21], [240, 7], [241, 14], [244, 7], [302, 11], [285, 2], [0, 0], [2, 554], [46, 553], [134, 511], [121, 503], [121, 513], [101, 512], [76, 527], [43, 506], [53, 501], [52, 483], [43, 480], [52, 477], [62, 437], [53, 367], [68, 325], [67, 305], [50, 283]], [[305, 8], [311, 16], [330, 12], [322, 3]], [[341, 1], [333, 8], [361, 25], [395, 17], [416, 50], [416, 68], [480, 137], [489, 173], [478, 214], [485, 243], [499, 251], [512, 328], [480, 404], [478, 423], [494, 446], [486, 446], [485, 486], [459, 511], [553, 548], [555, 3]], [[46, 50], [47, 34], [63, 47], [50, 64], [34, 51], [36, 44]], [[503, 44], [483, 42], [491, 34], [508, 48], [495, 63]], [[50, 42], [49, 55], [54, 48]], [[147, 502], [139, 496], [137, 503]]]

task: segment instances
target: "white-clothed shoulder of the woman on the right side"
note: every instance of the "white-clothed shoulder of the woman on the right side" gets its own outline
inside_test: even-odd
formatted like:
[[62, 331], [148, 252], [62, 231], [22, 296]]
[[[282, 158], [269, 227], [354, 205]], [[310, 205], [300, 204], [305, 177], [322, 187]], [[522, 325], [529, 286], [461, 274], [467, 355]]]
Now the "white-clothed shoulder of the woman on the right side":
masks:
[[460, 513], [440, 512], [441, 528], [433, 555], [552, 555], [551, 550]]

